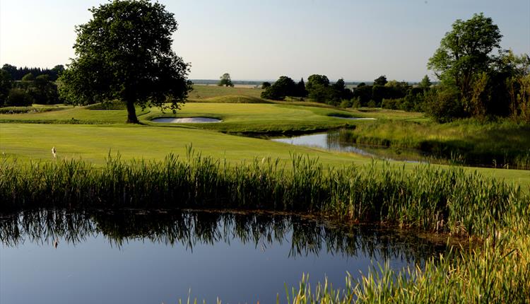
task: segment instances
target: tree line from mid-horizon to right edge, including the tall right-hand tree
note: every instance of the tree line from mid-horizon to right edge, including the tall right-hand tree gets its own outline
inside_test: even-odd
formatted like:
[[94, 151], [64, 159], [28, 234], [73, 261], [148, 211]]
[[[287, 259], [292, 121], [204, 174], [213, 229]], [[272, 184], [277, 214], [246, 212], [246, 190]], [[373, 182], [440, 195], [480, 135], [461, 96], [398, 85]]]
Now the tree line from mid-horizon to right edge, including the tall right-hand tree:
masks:
[[[428, 68], [440, 83], [425, 76], [417, 86], [387, 81], [379, 76], [372, 85], [359, 83], [352, 90], [343, 79], [330, 83], [325, 75], [311, 75], [307, 83], [281, 76], [263, 83], [261, 97], [310, 98], [340, 107], [384, 107], [427, 112], [439, 122], [476, 117], [511, 117], [530, 123], [530, 57], [500, 48], [499, 28], [491, 18], [475, 14], [457, 20], [429, 59]], [[498, 54], [493, 54], [497, 49]]]

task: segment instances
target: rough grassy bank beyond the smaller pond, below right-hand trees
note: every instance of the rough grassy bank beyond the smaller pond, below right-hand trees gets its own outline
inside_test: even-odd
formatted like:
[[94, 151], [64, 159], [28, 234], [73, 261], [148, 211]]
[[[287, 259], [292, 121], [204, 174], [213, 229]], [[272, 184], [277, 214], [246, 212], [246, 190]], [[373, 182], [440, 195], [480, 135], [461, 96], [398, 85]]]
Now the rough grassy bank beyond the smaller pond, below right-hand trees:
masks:
[[462, 164], [530, 168], [530, 126], [463, 119], [448, 124], [378, 121], [341, 132], [343, 141], [414, 148]]

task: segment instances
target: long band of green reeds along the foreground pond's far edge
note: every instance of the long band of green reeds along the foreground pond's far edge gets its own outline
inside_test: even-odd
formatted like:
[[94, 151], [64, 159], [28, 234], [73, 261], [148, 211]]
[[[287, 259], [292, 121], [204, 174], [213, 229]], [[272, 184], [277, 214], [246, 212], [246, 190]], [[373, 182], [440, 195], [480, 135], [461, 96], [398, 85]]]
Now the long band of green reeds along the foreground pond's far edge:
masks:
[[290, 166], [264, 158], [230, 165], [189, 148], [162, 161], [109, 156], [103, 168], [81, 160], [0, 167], [0, 211], [51, 208], [235, 208], [307, 211], [458, 235], [488, 236], [529, 203], [507, 183], [458, 168], [385, 164], [327, 168], [293, 155]]

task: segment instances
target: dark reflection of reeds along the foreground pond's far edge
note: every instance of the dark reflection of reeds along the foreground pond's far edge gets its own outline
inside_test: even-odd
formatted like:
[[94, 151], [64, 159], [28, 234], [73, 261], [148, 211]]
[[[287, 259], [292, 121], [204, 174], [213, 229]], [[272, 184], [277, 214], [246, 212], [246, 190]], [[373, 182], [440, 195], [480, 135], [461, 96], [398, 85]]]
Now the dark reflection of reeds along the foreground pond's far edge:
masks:
[[[300, 215], [240, 214], [211, 211], [25, 211], [0, 219], [0, 241], [6, 247], [25, 242], [39, 245], [57, 240], [76, 245], [102, 235], [112, 247], [131, 240], [182, 245], [190, 252], [201, 245], [237, 240], [266, 250], [290, 245], [289, 257], [318, 256], [321, 252], [352, 257], [406, 259], [421, 262], [446, 246], [375, 226], [354, 226]], [[61, 244], [59, 244], [60, 246]]]

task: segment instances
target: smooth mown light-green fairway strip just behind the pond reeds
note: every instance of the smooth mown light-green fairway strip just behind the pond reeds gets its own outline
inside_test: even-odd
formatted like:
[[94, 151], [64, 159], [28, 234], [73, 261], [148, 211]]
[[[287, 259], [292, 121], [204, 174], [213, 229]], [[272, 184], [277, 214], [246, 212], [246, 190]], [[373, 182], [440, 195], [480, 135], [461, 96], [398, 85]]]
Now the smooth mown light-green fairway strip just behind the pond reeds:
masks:
[[[122, 159], [163, 159], [169, 153], [186, 156], [187, 146], [204, 156], [227, 160], [232, 165], [262, 158], [280, 159], [289, 163], [293, 153], [318, 158], [324, 165], [370, 165], [371, 158], [354, 153], [337, 153], [317, 148], [292, 146], [266, 139], [222, 134], [217, 131], [184, 127], [154, 127], [141, 125], [67, 125], [67, 124], [0, 124], [0, 152], [8, 160], [23, 163], [29, 160], [53, 160], [51, 149], [57, 148], [59, 158], [81, 158], [95, 165], [105, 163], [111, 153]], [[377, 166], [383, 161], [377, 161]], [[407, 170], [418, 164], [392, 161], [392, 165]], [[432, 165], [437, 166], [437, 165]], [[495, 177], [530, 187], [530, 172], [493, 168], [466, 168], [485, 177]]]

